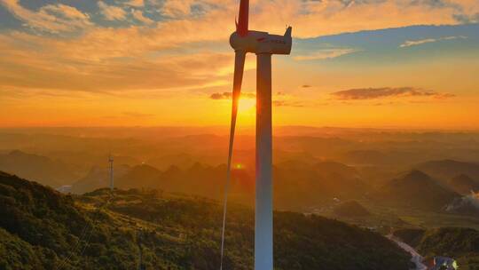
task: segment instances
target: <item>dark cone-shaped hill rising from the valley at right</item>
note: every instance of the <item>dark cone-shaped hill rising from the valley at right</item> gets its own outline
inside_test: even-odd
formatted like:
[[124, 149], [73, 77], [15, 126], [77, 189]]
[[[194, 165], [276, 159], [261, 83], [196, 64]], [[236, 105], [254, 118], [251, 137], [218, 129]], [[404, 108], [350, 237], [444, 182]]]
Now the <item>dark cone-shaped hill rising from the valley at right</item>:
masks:
[[422, 171], [413, 170], [393, 179], [374, 195], [385, 203], [426, 210], [442, 210], [460, 195], [441, 186]]

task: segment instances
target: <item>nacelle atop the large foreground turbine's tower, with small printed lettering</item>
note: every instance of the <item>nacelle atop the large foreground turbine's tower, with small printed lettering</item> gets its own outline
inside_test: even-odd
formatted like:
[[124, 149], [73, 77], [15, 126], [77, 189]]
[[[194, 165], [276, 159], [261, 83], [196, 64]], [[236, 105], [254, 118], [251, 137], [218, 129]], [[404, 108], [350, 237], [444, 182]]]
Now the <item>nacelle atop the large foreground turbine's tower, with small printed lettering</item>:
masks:
[[292, 28], [288, 27], [284, 36], [260, 31], [247, 31], [246, 36], [241, 36], [237, 31], [230, 36], [230, 44], [240, 52], [289, 54], [293, 44], [291, 31]]

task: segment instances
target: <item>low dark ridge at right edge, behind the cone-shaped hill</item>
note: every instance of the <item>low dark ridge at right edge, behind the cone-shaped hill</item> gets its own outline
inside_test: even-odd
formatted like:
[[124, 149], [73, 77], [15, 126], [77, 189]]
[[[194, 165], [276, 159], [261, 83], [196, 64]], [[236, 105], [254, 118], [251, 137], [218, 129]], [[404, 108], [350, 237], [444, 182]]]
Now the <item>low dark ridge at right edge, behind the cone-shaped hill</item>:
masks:
[[439, 160], [420, 163], [415, 168], [428, 173], [428, 175], [436, 179], [444, 180], [444, 182], [461, 174], [471, 179], [479, 180], [479, 163]]

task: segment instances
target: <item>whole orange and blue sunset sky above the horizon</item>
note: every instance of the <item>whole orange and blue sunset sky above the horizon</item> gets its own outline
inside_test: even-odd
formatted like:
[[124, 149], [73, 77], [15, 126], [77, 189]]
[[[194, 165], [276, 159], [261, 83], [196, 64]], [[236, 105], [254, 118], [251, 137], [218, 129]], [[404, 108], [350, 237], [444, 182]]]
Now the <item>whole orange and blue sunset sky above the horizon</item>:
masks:
[[[0, 126], [226, 125], [236, 0], [0, 0]], [[277, 125], [479, 129], [479, 1], [256, 0]], [[255, 55], [240, 125], [255, 123]]]

